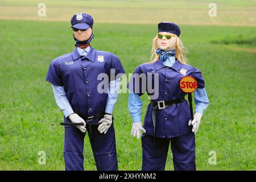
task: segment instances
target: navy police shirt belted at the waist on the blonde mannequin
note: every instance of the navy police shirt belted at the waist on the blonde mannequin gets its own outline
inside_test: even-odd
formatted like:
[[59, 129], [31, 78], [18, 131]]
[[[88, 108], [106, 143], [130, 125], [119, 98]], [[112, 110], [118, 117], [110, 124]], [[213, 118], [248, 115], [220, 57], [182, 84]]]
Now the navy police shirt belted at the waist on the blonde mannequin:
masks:
[[[135, 77], [131, 77], [127, 88], [129, 88], [131, 92], [137, 93], [139, 96], [147, 92], [149, 97], [151, 97], [152, 93], [148, 93], [147, 89], [148, 75], [153, 75], [152, 85], [154, 85], [154, 74], [159, 74], [159, 96], [152, 100], [154, 102], [184, 98], [187, 93], [184, 93], [179, 87], [179, 81], [184, 76], [194, 77], [197, 81], [197, 88], [204, 88], [204, 78], [199, 69], [193, 68], [191, 65], [181, 64], [177, 59], [171, 67], [167, 67], [160, 60], [154, 63], [144, 63], [135, 69], [134, 74], [135, 73], [139, 75], [144, 73], [146, 75], [146, 85], [143, 85], [142, 81], [137, 82], [137, 85], [135, 85]], [[131, 81], [133, 81], [133, 84], [131, 84]], [[146, 134], [148, 135], [154, 135], [152, 122], [153, 108], [151, 104], [148, 104], [144, 118], [143, 127], [146, 129]], [[192, 127], [188, 126], [189, 119], [191, 119], [191, 116], [187, 100], [179, 104], [167, 106], [166, 109], [158, 110], [156, 112], [155, 136], [171, 138], [189, 133], [192, 130]]]

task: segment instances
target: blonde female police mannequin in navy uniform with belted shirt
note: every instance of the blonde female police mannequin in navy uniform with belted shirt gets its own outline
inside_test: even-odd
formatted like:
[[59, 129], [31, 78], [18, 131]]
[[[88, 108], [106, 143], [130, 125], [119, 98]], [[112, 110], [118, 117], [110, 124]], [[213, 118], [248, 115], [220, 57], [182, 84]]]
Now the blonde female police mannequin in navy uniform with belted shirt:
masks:
[[[153, 39], [151, 62], [139, 65], [127, 85], [131, 91], [129, 111], [134, 122], [131, 135], [139, 139], [143, 131], [142, 170], [164, 170], [170, 143], [174, 169], [196, 169], [195, 133], [209, 100], [204, 88], [204, 78], [199, 69], [187, 64], [179, 36], [180, 28], [177, 24], [159, 23], [158, 34]], [[136, 81], [135, 73], [146, 75], [146, 86], [143, 86], [142, 81]], [[180, 79], [187, 75], [194, 77], [198, 85], [195, 91], [196, 109], [193, 121], [188, 102], [184, 100], [186, 93], [179, 88]], [[148, 92], [148, 84], [154, 85], [150, 81], [159, 83], [158, 88], [154, 88], [154, 92], [158, 92], [156, 98], [152, 98], [152, 93]], [[151, 101], [147, 106], [142, 127], [142, 101], [139, 96], [145, 92]]]

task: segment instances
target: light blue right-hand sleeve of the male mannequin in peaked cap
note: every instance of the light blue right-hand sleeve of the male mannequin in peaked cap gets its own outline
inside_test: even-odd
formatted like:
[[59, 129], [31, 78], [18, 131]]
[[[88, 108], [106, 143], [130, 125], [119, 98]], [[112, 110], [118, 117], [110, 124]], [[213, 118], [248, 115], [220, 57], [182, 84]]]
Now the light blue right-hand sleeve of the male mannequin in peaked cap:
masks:
[[105, 113], [113, 114], [115, 102], [117, 102], [118, 98], [118, 90], [120, 85], [120, 78], [117, 80], [112, 80], [109, 83], [108, 90], [108, 101], [106, 103]]

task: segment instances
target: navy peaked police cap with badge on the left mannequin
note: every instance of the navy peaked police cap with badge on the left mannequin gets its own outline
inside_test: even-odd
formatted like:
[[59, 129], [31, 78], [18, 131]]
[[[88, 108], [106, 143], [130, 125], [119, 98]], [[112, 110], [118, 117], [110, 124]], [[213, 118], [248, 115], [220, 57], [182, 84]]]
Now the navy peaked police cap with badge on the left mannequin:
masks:
[[71, 18], [71, 27], [86, 30], [87, 28], [92, 28], [93, 18], [92, 16], [85, 13], [77, 13]]

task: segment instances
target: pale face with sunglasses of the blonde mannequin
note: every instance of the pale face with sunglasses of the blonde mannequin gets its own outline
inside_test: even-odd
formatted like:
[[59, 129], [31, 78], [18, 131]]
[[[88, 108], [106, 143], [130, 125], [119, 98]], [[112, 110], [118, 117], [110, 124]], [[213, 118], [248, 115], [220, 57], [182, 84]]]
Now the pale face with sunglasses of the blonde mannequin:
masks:
[[[170, 32], [159, 32], [159, 34], [162, 35], [174, 35], [171, 34]], [[175, 49], [175, 44], [176, 44], [177, 36], [171, 36], [171, 39], [167, 39], [166, 36], [163, 36], [162, 39], [158, 38], [158, 47], [162, 49], [163, 51], [169, 51], [169, 50], [174, 50]]]

